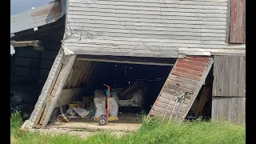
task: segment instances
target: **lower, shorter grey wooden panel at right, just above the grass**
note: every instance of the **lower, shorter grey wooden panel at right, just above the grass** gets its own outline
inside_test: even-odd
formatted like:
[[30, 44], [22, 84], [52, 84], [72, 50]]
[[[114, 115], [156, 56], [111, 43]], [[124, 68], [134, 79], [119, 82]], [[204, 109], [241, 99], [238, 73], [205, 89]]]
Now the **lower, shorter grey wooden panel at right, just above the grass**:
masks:
[[245, 123], [245, 98], [213, 97], [211, 118], [213, 121]]

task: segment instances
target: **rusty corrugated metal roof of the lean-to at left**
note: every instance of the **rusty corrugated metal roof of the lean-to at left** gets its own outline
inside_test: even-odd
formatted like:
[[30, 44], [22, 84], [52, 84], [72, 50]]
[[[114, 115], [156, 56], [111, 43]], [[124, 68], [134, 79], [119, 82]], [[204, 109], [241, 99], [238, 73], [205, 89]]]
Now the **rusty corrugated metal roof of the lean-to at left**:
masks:
[[66, 0], [56, 0], [45, 6], [10, 16], [10, 37], [14, 33], [56, 22], [66, 14]]

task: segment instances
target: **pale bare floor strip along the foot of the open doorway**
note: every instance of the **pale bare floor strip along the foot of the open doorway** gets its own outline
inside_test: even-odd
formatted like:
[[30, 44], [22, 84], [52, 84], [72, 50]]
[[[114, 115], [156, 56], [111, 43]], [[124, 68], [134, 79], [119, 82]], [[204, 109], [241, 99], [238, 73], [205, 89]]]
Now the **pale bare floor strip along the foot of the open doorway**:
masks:
[[78, 135], [81, 138], [88, 138], [93, 134], [102, 131], [110, 132], [117, 137], [123, 134], [129, 134], [138, 130], [142, 126], [141, 119], [136, 114], [120, 114], [118, 121], [109, 122], [106, 126], [99, 126], [93, 118], [73, 119], [70, 122], [54, 122], [46, 129], [32, 129], [30, 132], [42, 132], [42, 134], [71, 134]]

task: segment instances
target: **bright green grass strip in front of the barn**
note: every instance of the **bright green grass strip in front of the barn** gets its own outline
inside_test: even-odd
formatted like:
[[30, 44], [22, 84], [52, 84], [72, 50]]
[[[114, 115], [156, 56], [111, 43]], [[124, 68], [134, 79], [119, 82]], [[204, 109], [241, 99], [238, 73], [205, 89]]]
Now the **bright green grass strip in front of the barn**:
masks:
[[12, 143], [49, 143], [49, 144], [240, 144], [246, 141], [245, 125], [234, 125], [230, 122], [183, 122], [178, 124], [162, 124], [158, 118], [143, 119], [143, 125], [140, 130], [132, 134], [126, 134], [117, 138], [110, 133], [102, 132], [94, 134], [90, 138], [79, 138], [69, 134], [46, 135], [39, 133], [19, 133], [18, 129], [22, 125], [18, 113], [11, 117]]

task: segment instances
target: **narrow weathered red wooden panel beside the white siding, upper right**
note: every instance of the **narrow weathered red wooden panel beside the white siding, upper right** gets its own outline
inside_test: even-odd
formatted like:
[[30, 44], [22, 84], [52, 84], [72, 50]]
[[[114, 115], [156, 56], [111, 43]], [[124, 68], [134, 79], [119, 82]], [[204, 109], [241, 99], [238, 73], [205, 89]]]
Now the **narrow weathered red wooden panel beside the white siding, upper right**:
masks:
[[232, 0], [230, 4], [230, 43], [246, 43], [246, 0]]

